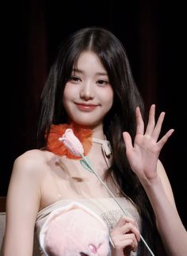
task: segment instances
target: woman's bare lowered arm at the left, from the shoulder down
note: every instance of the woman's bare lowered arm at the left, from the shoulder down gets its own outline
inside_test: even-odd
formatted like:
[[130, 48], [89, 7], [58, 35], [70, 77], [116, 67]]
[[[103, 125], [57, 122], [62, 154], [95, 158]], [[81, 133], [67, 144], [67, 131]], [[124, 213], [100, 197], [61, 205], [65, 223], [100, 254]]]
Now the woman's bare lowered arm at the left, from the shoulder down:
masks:
[[4, 256], [32, 256], [33, 234], [40, 204], [36, 160], [31, 151], [13, 164], [6, 202]]

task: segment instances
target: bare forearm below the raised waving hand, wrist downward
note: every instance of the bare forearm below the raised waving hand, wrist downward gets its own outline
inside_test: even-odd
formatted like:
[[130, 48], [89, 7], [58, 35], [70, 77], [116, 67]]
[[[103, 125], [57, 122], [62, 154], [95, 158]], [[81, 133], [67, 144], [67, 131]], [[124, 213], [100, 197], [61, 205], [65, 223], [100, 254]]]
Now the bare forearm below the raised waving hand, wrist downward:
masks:
[[143, 187], [154, 209], [158, 231], [168, 255], [187, 254], [187, 232], [176, 208], [171, 204], [159, 177], [154, 181], [142, 181]]

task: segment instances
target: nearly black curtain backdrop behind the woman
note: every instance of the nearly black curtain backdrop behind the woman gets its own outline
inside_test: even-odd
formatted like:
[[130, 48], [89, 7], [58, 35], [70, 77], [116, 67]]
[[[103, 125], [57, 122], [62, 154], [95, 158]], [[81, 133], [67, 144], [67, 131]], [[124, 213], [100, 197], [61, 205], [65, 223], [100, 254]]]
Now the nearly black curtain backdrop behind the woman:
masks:
[[110, 29], [124, 44], [147, 109], [166, 111], [174, 135], [160, 159], [187, 227], [186, 13], [183, 1], [10, 1], [1, 7], [2, 170], [5, 197], [13, 161], [36, 147], [40, 93], [60, 42], [89, 25]]

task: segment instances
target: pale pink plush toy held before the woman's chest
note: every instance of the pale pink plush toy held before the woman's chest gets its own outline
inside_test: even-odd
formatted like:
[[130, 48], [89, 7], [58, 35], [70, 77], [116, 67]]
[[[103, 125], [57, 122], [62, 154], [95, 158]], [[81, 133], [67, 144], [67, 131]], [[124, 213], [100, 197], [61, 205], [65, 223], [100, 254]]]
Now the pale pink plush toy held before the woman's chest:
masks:
[[77, 202], [53, 211], [40, 230], [46, 256], [110, 256], [109, 229], [104, 220]]

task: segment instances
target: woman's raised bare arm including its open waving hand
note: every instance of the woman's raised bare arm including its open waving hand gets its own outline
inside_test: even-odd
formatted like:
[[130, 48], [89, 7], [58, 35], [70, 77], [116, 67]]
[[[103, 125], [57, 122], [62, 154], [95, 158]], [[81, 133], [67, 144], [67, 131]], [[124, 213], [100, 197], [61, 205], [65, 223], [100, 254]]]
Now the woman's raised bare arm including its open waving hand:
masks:
[[128, 161], [151, 201], [166, 252], [169, 255], [183, 256], [187, 254], [187, 232], [178, 216], [170, 181], [162, 163], [158, 160], [162, 147], [174, 132], [170, 129], [158, 140], [164, 115], [165, 113], [161, 113], [155, 124], [155, 105], [151, 105], [147, 128], [144, 132], [141, 113], [137, 108], [134, 145], [128, 132], [124, 132], [123, 136]]

